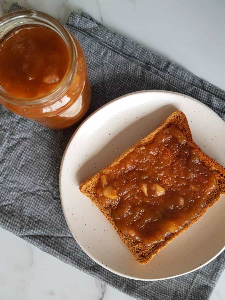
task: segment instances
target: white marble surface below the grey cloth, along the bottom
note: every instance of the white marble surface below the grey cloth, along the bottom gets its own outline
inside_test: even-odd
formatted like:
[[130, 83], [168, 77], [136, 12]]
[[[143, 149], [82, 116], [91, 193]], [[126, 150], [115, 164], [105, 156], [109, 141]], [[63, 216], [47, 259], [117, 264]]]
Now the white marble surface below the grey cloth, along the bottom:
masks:
[[[131, 300], [0, 228], [1, 300]], [[225, 299], [225, 272], [210, 300]], [[193, 299], [195, 300], [195, 299]]]

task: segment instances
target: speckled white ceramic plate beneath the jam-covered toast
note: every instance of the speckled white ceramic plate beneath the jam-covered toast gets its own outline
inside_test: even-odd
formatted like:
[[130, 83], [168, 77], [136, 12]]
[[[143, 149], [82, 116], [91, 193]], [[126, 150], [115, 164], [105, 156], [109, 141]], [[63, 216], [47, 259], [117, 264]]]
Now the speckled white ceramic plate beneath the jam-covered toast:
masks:
[[210, 262], [225, 248], [225, 196], [190, 229], [140, 265], [97, 206], [79, 191], [79, 184], [110, 164], [170, 113], [182, 110], [193, 140], [225, 165], [225, 123], [211, 109], [188, 96], [142, 91], [111, 101], [88, 117], [73, 134], [62, 158], [60, 196], [74, 238], [95, 262], [129, 278], [158, 280], [179, 276]]

